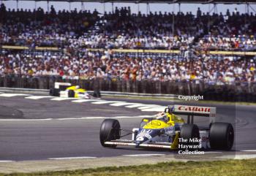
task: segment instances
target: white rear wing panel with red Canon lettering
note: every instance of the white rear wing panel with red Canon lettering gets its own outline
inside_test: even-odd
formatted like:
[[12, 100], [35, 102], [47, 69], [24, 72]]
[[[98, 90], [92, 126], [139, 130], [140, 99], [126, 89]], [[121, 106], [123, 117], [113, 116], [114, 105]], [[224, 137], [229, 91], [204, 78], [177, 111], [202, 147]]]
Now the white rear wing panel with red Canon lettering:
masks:
[[172, 112], [176, 115], [196, 115], [213, 118], [216, 116], [216, 107], [197, 107], [175, 104], [172, 107]]

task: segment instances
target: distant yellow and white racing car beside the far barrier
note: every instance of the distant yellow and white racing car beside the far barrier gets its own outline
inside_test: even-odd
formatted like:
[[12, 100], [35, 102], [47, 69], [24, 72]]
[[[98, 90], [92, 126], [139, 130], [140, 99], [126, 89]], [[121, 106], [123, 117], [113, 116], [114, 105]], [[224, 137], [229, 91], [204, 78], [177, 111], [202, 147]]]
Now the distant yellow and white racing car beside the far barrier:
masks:
[[99, 98], [100, 93], [94, 91], [93, 94], [90, 94], [86, 89], [80, 88], [78, 85], [71, 85], [71, 83], [54, 83], [54, 88], [50, 88], [50, 96], [91, 99]]

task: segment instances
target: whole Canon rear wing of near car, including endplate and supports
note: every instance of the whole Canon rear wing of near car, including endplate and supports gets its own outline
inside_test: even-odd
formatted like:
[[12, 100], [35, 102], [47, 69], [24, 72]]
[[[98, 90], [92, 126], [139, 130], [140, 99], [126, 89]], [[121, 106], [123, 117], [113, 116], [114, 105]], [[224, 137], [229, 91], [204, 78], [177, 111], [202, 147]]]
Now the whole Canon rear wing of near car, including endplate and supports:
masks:
[[197, 107], [175, 104], [165, 109], [175, 115], [187, 115], [187, 123], [194, 123], [194, 116], [210, 117], [210, 123], [215, 121], [216, 107]]

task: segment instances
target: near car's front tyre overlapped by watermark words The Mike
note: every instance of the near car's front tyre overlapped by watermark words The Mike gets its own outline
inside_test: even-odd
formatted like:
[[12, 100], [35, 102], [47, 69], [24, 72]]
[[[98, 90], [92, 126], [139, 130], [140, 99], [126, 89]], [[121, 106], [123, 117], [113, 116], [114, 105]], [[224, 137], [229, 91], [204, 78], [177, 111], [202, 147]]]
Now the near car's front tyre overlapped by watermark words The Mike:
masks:
[[184, 124], [183, 126], [181, 126], [180, 137], [181, 139], [187, 140], [187, 142], [180, 142], [181, 145], [199, 145], [199, 142], [197, 142], [197, 140], [200, 139], [198, 126], [195, 124]]

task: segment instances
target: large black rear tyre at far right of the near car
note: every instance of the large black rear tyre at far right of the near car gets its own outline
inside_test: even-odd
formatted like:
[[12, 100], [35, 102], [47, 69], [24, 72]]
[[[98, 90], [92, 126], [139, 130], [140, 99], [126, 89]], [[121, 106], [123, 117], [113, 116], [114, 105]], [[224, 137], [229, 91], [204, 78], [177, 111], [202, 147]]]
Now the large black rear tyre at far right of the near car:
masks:
[[230, 150], [234, 143], [233, 126], [224, 122], [212, 123], [209, 138], [212, 149]]

